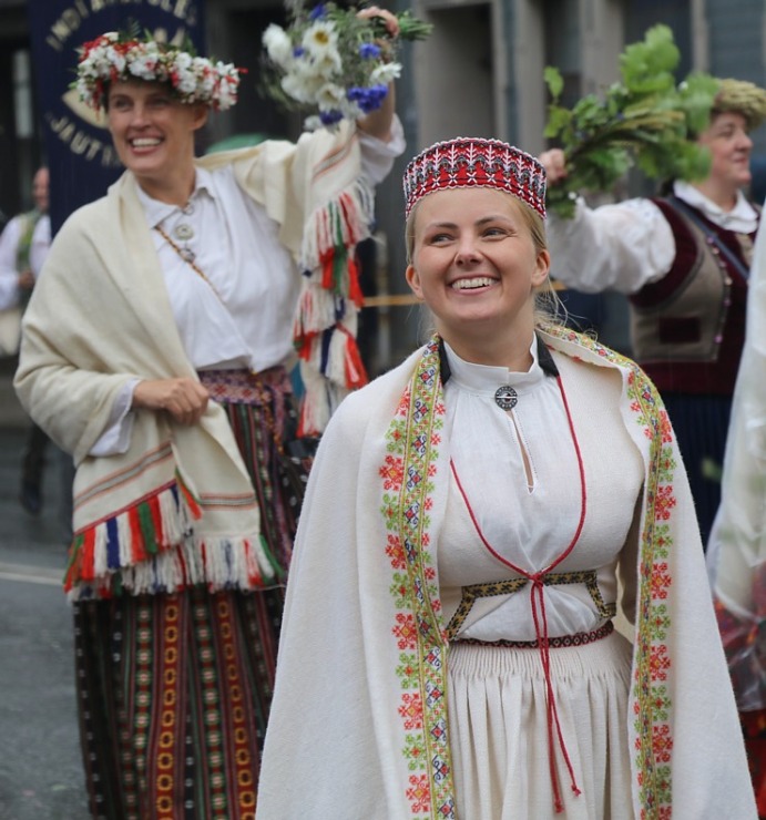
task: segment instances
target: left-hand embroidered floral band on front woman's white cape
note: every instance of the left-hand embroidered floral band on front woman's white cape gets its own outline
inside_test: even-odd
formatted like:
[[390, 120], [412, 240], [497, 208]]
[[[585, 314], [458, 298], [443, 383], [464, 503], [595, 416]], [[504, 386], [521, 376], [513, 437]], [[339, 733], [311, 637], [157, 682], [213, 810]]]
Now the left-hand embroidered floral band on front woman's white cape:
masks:
[[443, 417], [439, 346], [432, 340], [387, 432], [389, 454], [380, 467], [397, 611], [391, 638], [399, 649], [401, 755], [410, 772], [404, 797], [412, 820], [456, 818], [447, 736], [448, 644], [428, 514]]

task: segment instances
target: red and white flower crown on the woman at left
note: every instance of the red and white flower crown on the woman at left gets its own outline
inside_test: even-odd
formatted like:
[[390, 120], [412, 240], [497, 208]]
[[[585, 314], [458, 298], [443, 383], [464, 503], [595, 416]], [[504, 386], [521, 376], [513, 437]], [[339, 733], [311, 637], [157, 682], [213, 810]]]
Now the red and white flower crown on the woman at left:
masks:
[[99, 111], [105, 107], [109, 84], [143, 80], [167, 83], [182, 103], [205, 103], [226, 111], [237, 101], [242, 69], [197, 57], [190, 45], [159, 42], [109, 31], [78, 49], [78, 76], [72, 83], [80, 99]]

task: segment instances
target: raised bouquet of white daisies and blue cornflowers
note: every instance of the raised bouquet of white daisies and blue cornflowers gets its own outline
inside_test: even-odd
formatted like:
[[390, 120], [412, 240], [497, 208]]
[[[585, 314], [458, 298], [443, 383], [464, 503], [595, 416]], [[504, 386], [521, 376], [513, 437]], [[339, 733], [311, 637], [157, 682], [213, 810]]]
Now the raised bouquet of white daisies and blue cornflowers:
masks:
[[[409, 11], [396, 19], [399, 40], [422, 40], [432, 28]], [[397, 38], [355, 7], [326, 2], [307, 11], [297, 0], [287, 29], [269, 25], [263, 43], [266, 93], [289, 110], [315, 112], [304, 123], [308, 131], [379, 109], [401, 73]]]

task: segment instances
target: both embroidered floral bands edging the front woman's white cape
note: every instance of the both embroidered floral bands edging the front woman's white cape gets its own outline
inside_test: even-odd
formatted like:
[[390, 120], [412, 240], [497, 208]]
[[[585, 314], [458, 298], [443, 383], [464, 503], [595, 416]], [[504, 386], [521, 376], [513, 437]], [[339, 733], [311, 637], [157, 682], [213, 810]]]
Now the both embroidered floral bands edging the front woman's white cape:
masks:
[[[636, 741], [631, 754], [642, 820], [670, 820], [673, 704], [666, 684], [671, 672], [666, 601], [672, 586], [668, 522], [676, 506], [677, 467], [672, 428], [656, 389], [635, 362], [566, 328], [544, 331], [621, 368], [630, 412], [648, 440], [651, 483], [644, 498], [631, 693]], [[575, 351], [570, 355], [578, 358]], [[411, 772], [406, 800], [412, 820], [456, 817], [447, 736], [447, 637], [428, 516], [443, 417], [437, 337], [426, 347], [387, 432], [388, 455], [379, 471], [381, 513], [389, 533], [386, 553], [392, 570], [390, 593], [397, 609], [391, 637], [400, 663], [394, 674], [402, 691], [401, 754]]]

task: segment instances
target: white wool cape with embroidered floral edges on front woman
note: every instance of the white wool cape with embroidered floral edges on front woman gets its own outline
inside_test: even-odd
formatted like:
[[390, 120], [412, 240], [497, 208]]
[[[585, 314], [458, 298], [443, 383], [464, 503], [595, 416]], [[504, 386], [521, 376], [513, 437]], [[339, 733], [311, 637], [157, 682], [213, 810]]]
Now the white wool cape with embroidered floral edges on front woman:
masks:
[[[619, 368], [620, 411], [646, 470], [625, 716], [635, 817], [755, 820], [692, 499], [656, 390], [592, 340], [541, 337], [554, 359]], [[287, 584], [257, 818], [456, 817], [436, 554], [443, 417], [435, 340], [328, 426]], [[610, 458], [599, 430], [578, 434]]]

